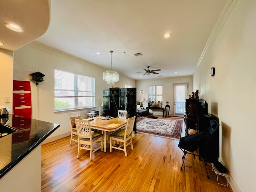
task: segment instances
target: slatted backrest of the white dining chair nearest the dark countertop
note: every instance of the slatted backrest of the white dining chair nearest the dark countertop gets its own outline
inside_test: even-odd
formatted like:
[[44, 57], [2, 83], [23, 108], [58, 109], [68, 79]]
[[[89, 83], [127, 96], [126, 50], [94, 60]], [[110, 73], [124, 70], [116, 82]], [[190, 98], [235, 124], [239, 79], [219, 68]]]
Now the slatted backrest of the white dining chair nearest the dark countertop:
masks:
[[75, 122], [76, 122], [78, 139], [86, 138], [86, 139], [92, 140], [90, 121], [86, 119], [83, 119], [83, 120], [75, 119]]

